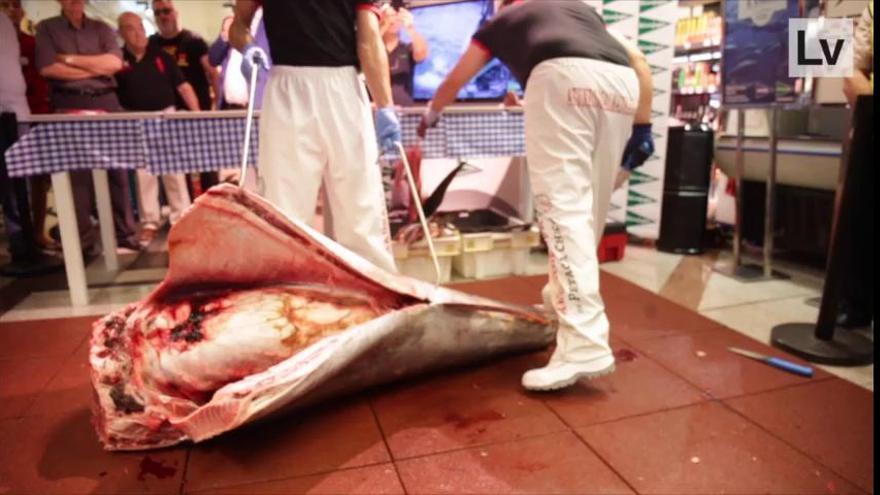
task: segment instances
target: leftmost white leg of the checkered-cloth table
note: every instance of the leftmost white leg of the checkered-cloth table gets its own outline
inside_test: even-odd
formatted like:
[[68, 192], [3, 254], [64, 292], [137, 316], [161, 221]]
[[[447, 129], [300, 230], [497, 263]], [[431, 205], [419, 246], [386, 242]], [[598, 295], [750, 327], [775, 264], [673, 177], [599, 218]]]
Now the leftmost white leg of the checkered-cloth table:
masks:
[[58, 229], [61, 232], [61, 249], [64, 254], [64, 271], [67, 275], [70, 303], [73, 306], [85, 306], [89, 303], [89, 293], [76, 224], [70, 174], [67, 172], [52, 174], [52, 188], [55, 191], [55, 207], [58, 210]]

